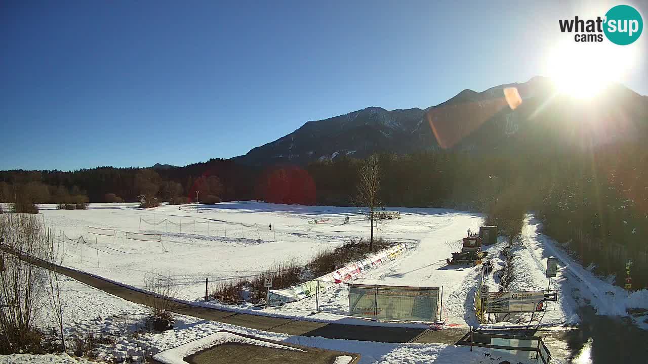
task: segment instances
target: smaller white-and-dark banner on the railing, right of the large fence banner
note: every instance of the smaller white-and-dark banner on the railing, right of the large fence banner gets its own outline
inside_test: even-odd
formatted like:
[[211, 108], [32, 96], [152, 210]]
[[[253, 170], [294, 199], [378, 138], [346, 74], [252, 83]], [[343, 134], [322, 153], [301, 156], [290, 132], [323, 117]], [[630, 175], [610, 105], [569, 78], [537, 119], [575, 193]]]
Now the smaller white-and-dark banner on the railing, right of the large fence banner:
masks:
[[491, 292], [486, 313], [542, 311], [544, 291]]

